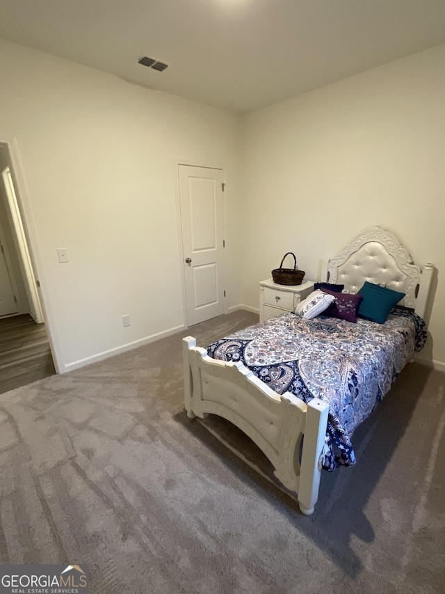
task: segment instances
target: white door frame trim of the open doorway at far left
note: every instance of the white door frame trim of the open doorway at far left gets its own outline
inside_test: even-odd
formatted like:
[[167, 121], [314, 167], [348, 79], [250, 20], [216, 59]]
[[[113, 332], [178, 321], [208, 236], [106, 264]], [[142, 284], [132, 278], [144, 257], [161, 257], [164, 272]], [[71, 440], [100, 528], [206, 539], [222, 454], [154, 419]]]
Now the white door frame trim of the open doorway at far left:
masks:
[[[47, 329], [49, 347], [54, 361], [56, 373], [62, 373], [63, 358], [60, 351], [60, 345], [56, 333], [56, 325], [54, 322], [54, 315], [51, 311], [51, 304], [49, 302], [49, 295], [47, 290], [47, 283], [44, 279], [42, 259], [40, 257], [40, 248], [38, 244], [37, 235], [35, 233], [35, 223], [31, 211], [28, 192], [26, 189], [26, 182], [22, 173], [22, 162], [19, 157], [19, 150], [17, 141], [14, 136], [5, 136], [0, 134], [0, 146], [6, 147], [9, 153], [10, 160], [10, 174], [13, 178], [15, 195], [17, 198], [17, 205], [19, 208], [19, 216], [22, 220], [24, 230], [24, 237], [27, 247], [29, 249], [29, 258], [31, 261], [31, 269], [38, 287], [38, 297], [40, 306], [42, 308], [42, 315]], [[13, 230], [15, 233], [15, 230]]]

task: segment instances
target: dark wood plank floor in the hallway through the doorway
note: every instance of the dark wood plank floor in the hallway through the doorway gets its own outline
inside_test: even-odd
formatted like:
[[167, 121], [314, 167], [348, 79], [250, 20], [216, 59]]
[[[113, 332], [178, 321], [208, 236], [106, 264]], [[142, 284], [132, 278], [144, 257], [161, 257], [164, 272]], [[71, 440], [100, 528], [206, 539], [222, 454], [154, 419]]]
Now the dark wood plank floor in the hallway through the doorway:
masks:
[[36, 324], [28, 314], [1, 318], [0, 393], [55, 373], [44, 324]]

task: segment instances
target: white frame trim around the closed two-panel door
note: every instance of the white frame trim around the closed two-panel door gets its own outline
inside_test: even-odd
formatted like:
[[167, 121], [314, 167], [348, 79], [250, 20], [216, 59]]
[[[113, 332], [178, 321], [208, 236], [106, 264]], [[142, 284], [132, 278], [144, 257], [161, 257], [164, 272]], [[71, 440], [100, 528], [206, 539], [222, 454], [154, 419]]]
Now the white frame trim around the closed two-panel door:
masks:
[[[186, 296], [186, 276], [184, 274], [184, 244], [183, 244], [183, 237], [182, 237], [182, 221], [181, 221], [181, 196], [179, 194], [179, 165], [186, 165], [188, 167], [202, 167], [202, 169], [219, 169], [222, 171], [223, 177], [223, 184], [225, 185], [225, 191], [223, 192], [223, 237], [227, 236], [227, 185], [226, 185], [226, 169], [225, 166], [216, 165], [216, 164], [209, 164], [209, 163], [202, 163], [199, 162], [198, 159], [193, 159], [193, 161], [189, 159], [175, 159], [175, 171], [174, 171], [174, 179], [175, 179], [175, 202], [176, 202], [176, 224], [177, 224], [177, 236], [178, 236], [178, 254], [179, 254], [179, 276], [181, 279], [181, 295], [182, 295], [182, 319], [184, 320], [184, 327], [188, 328], [188, 316], [187, 316], [187, 296]], [[227, 286], [227, 258], [225, 257], [225, 249], [223, 250], [223, 283], [224, 286]], [[224, 299], [224, 313], [228, 313], [227, 307], [227, 295]]]

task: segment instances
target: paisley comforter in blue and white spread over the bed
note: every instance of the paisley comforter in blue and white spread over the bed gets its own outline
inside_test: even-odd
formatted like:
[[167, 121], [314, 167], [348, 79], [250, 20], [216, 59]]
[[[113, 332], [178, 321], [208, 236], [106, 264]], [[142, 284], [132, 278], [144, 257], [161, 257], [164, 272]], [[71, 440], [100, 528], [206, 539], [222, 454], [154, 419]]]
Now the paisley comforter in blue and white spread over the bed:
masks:
[[284, 313], [216, 341], [207, 352], [213, 359], [241, 361], [279, 394], [327, 402], [323, 468], [333, 470], [355, 464], [355, 428], [425, 341], [425, 323], [411, 311], [396, 310], [385, 324]]

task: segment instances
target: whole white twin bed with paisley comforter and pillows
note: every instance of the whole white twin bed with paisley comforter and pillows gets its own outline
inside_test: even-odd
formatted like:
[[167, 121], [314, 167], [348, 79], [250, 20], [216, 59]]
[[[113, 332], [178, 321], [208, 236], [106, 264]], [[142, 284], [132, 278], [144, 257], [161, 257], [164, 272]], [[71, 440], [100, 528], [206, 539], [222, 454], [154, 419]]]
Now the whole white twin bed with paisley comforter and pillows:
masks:
[[[210, 413], [234, 423], [297, 493], [302, 513], [312, 514], [322, 471], [355, 464], [355, 428], [425, 343], [433, 270], [415, 265], [389, 231], [365, 229], [323, 260], [324, 284], [296, 311], [205, 349], [184, 338], [188, 417]], [[392, 299], [381, 319], [380, 292]], [[351, 314], [353, 304], [355, 314], [369, 315]]]

